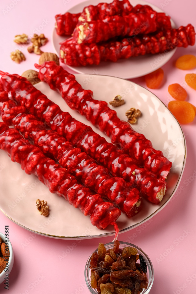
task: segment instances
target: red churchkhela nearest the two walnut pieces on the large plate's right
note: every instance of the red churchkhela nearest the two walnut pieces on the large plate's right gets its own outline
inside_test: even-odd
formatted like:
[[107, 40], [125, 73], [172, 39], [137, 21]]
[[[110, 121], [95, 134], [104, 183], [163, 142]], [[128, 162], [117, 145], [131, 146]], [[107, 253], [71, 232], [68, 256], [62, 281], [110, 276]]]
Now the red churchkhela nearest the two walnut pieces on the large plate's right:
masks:
[[57, 90], [71, 109], [79, 111], [100, 131], [107, 134], [112, 143], [120, 145], [123, 153], [134, 158], [138, 166], [144, 166], [158, 178], [165, 180], [171, 162], [161, 151], [155, 150], [144, 135], [135, 132], [130, 123], [121, 121], [107, 102], [93, 99], [92, 91], [84, 90], [74, 75], [57, 66], [54, 61], [47, 61], [37, 68], [41, 81]]

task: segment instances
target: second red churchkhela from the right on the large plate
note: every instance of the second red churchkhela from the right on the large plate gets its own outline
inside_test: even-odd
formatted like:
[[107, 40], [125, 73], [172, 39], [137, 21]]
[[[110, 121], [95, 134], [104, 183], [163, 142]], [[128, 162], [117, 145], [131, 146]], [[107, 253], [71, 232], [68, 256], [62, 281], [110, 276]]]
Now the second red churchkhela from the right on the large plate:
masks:
[[[40, 73], [42, 75], [45, 73], [47, 78], [47, 69], [52, 70], [53, 64], [54, 62], [51, 61], [40, 66]], [[51, 80], [51, 76], [48, 78]], [[99, 164], [107, 167], [113, 176], [122, 177], [130, 182], [148, 201], [160, 203], [167, 187], [165, 181], [157, 179], [155, 174], [135, 164], [132, 158], [118, 152], [113, 144], [95, 133], [90, 126], [76, 121], [68, 112], [61, 111], [58, 105], [33, 87], [26, 78], [5, 74], [1, 77], [0, 83], [16, 102], [25, 106], [31, 114], [40, 118], [53, 131], [58, 132]], [[50, 86], [52, 87], [52, 83]]]

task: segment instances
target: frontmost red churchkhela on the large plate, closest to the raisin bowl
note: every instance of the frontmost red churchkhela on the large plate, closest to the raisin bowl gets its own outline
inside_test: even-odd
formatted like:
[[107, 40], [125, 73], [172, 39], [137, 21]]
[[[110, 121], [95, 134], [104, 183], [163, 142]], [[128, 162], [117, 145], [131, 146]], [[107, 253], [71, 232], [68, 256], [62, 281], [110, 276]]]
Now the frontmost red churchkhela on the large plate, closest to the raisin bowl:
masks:
[[44, 156], [41, 150], [24, 139], [16, 129], [0, 122], [0, 149], [6, 151], [11, 160], [21, 165], [27, 174], [34, 174], [51, 193], [64, 197], [99, 229], [113, 224], [121, 211], [112, 203], [104, 202], [100, 195], [93, 195], [88, 188], [78, 184], [76, 178], [54, 160]]

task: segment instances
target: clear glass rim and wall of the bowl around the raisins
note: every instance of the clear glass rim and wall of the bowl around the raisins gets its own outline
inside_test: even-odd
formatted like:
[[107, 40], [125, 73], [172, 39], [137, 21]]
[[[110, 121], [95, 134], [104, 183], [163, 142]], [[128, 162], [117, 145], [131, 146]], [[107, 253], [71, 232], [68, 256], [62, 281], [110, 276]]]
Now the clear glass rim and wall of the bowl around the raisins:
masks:
[[[105, 244], [105, 249], [106, 250], [112, 249], [113, 245], [114, 245], [114, 242], [107, 243], [107, 244]], [[131, 243], [120, 241], [119, 249], [123, 249], [124, 247], [134, 247], [134, 248], [136, 248], [138, 250], [138, 254], [141, 254], [143, 256], [143, 258], [145, 259], [145, 262], [146, 262], [146, 265], [147, 265], [147, 273], [146, 273], [146, 275], [147, 275], [147, 278], [148, 278], [148, 287], [147, 287], [147, 289], [143, 289], [141, 294], [148, 294], [150, 292], [150, 289], [151, 289], [151, 287], [153, 285], [153, 281], [154, 281], [154, 269], [153, 269], [153, 265], [152, 265], [152, 262], [151, 262], [150, 258], [138, 246], [133, 245]], [[93, 253], [95, 253], [95, 252], [98, 253], [98, 248]], [[98, 294], [98, 291], [91, 287], [91, 269], [89, 268], [89, 266], [90, 266], [92, 254], [89, 256], [89, 258], [88, 258], [88, 260], [86, 262], [84, 275], [85, 275], [86, 285], [87, 285], [88, 289], [90, 290], [90, 292], [92, 294]]]

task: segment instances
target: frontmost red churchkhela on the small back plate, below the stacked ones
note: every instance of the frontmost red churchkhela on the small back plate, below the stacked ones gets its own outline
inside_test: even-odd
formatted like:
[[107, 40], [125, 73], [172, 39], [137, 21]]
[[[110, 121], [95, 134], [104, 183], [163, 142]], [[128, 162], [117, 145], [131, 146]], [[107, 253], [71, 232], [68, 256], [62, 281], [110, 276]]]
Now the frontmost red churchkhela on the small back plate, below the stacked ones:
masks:
[[191, 24], [134, 38], [115, 38], [100, 44], [77, 44], [71, 37], [61, 42], [60, 59], [70, 66], [98, 65], [101, 61], [116, 62], [118, 59], [156, 54], [194, 44], [195, 30]]

